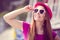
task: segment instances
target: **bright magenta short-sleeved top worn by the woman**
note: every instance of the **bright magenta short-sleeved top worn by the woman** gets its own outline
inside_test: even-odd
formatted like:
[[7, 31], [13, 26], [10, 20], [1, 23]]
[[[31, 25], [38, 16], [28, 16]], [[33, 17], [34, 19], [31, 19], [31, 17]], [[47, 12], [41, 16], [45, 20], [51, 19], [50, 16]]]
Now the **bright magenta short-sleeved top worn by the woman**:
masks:
[[[30, 29], [30, 24], [23, 22], [24, 40], [27, 40], [29, 29]], [[53, 35], [53, 38], [55, 38], [56, 33], [52, 32], [52, 35]], [[44, 40], [44, 35], [36, 34], [34, 40]]]

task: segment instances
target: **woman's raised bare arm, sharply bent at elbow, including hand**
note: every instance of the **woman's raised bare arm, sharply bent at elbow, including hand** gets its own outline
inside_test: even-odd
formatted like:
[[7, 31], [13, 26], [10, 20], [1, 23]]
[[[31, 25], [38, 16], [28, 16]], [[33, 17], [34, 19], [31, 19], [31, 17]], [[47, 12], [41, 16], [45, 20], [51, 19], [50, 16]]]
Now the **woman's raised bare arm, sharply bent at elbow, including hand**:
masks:
[[14, 28], [19, 28], [22, 30], [22, 26], [23, 26], [23, 21], [17, 20], [15, 19], [18, 15], [20, 15], [21, 13], [24, 12], [29, 12], [31, 11], [33, 8], [29, 5], [25, 6], [24, 8], [20, 8], [17, 10], [14, 10], [12, 12], [9, 12], [8, 14], [4, 15], [3, 18], [4, 20], [11, 25]]

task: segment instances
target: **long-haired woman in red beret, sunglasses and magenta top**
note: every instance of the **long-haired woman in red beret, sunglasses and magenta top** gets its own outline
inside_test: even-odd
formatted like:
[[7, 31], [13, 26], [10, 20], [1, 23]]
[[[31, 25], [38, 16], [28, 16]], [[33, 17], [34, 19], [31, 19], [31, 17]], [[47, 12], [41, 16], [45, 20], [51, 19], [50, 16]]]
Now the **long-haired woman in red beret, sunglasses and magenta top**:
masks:
[[[15, 19], [21, 13], [29, 11], [33, 12], [31, 24]], [[59, 36], [51, 29], [52, 12], [44, 3], [37, 2], [34, 8], [29, 5], [25, 6], [4, 15], [3, 18], [12, 27], [23, 31], [24, 40], [60, 40]]]

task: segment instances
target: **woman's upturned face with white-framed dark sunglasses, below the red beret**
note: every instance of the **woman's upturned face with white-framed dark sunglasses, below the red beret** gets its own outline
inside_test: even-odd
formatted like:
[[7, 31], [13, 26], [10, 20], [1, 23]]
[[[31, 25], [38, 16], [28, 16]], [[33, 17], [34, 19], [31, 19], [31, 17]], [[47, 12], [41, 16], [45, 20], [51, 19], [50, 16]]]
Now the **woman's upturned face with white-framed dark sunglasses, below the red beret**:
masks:
[[37, 6], [34, 9], [34, 20], [35, 21], [44, 21], [46, 11], [43, 6]]

